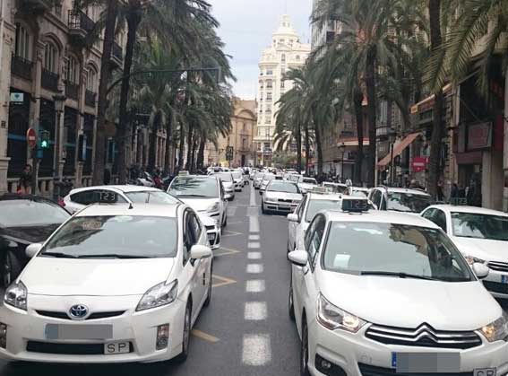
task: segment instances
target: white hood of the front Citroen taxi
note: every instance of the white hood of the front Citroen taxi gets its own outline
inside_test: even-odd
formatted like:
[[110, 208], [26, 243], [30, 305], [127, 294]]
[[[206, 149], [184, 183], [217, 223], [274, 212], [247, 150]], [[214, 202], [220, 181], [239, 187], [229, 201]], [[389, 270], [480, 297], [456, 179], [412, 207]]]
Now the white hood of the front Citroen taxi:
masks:
[[452, 283], [319, 272], [328, 301], [378, 325], [417, 328], [425, 322], [437, 330], [476, 330], [502, 315], [499, 304], [479, 281]]

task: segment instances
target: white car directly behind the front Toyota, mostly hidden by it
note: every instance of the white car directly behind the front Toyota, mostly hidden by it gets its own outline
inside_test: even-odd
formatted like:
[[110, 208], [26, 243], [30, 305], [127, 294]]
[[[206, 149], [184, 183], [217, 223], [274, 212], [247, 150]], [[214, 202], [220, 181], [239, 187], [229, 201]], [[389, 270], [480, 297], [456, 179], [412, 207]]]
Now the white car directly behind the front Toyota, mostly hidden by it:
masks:
[[[63, 206], [69, 212], [75, 213], [87, 205], [104, 201], [105, 198], [114, 198], [115, 202], [112, 204], [174, 205], [183, 202], [158, 188], [125, 185], [75, 188], [64, 197]], [[198, 215], [206, 228], [211, 249], [220, 249], [220, 224], [207, 212], [198, 212]]]

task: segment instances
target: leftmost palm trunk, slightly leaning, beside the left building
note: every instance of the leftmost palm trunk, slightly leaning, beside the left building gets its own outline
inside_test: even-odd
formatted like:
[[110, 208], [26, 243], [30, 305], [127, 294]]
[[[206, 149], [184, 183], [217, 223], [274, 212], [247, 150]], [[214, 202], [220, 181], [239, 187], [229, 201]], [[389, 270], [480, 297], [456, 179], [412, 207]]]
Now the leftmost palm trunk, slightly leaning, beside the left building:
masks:
[[104, 162], [106, 155], [106, 110], [108, 109], [108, 82], [111, 78], [111, 49], [115, 40], [116, 14], [118, 13], [118, 0], [108, 0], [106, 13], [106, 27], [104, 30], [104, 43], [102, 44], [102, 57], [100, 58], [100, 83], [97, 109], [97, 135], [94, 153], [94, 168], [91, 178], [92, 184], [99, 186], [104, 183]]

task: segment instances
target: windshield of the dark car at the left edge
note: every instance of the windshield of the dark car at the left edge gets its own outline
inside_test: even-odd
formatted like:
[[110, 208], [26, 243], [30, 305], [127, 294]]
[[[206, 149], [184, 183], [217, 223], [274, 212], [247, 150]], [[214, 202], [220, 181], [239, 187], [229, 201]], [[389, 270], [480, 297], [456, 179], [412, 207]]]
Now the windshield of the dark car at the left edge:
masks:
[[71, 214], [62, 207], [46, 200], [0, 200], [0, 226], [36, 226], [64, 223]]

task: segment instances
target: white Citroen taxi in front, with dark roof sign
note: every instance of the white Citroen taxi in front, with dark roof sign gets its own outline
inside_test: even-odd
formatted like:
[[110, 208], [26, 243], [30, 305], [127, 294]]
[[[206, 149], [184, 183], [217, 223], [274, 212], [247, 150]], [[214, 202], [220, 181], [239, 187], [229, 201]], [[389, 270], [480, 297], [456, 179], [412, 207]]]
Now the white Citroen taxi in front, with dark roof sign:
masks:
[[478, 280], [488, 268], [434, 223], [360, 201], [316, 214], [288, 254], [301, 374], [504, 376], [508, 322]]

